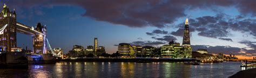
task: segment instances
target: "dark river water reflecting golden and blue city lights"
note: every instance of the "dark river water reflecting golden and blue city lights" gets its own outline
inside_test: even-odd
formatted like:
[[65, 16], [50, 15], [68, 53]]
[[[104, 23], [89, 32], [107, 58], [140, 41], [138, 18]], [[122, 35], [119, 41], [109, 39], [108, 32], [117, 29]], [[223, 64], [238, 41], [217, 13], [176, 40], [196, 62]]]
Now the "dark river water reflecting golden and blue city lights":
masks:
[[0, 69], [0, 77], [228, 77], [240, 62], [184, 65], [183, 62], [57, 62], [28, 69]]

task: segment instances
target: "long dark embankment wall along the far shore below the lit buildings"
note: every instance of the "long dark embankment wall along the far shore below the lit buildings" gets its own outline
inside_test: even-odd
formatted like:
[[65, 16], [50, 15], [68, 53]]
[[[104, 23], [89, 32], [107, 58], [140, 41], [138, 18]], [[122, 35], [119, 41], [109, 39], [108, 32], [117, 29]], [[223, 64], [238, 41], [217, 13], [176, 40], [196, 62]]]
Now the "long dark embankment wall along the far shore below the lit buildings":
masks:
[[84, 62], [184, 62], [184, 61], [200, 61], [197, 59], [99, 59], [99, 58], [93, 58], [93, 59], [63, 59], [59, 61], [84, 61]]

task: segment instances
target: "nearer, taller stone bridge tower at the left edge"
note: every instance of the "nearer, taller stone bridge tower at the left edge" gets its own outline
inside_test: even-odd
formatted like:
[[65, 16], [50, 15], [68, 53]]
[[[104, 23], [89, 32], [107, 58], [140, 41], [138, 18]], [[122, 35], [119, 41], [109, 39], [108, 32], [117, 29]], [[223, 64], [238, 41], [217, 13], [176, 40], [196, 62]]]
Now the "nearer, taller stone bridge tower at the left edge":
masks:
[[17, 47], [16, 40], [16, 12], [10, 12], [8, 6], [4, 4], [3, 10], [0, 13], [0, 27], [3, 28], [3, 33], [0, 33], [0, 47], [1, 51], [11, 52], [11, 48]]

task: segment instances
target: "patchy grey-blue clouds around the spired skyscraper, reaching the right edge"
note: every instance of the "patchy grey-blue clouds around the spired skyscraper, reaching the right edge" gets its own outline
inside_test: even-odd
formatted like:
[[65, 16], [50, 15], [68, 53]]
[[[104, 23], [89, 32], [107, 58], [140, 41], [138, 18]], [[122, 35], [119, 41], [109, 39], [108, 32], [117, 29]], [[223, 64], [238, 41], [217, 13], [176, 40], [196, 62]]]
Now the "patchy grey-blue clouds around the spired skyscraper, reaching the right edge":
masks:
[[[251, 34], [256, 37], [256, 19], [246, 18], [244, 16], [235, 16], [230, 18], [230, 16], [223, 13], [219, 13], [215, 16], [202, 16], [194, 19], [189, 19], [190, 28], [198, 31], [199, 36], [209, 37], [209, 38], [223, 38], [232, 36], [232, 31], [239, 31], [246, 34]], [[177, 25], [176, 32], [172, 32], [174, 36], [181, 36], [182, 28], [184, 27], [180, 23]]]

